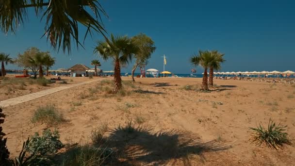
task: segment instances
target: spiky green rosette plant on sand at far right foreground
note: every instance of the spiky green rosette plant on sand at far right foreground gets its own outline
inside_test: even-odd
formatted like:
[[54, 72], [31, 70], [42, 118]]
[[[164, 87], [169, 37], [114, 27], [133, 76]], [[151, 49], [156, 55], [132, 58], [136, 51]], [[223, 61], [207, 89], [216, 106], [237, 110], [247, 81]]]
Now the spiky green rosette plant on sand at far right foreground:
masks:
[[250, 128], [252, 130], [252, 142], [261, 146], [262, 144], [274, 149], [281, 149], [284, 144], [291, 145], [291, 141], [288, 139], [288, 133], [286, 131], [287, 126], [282, 126], [280, 123], [276, 125], [271, 119], [269, 119], [268, 127], [265, 129], [261, 124], [257, 128]]

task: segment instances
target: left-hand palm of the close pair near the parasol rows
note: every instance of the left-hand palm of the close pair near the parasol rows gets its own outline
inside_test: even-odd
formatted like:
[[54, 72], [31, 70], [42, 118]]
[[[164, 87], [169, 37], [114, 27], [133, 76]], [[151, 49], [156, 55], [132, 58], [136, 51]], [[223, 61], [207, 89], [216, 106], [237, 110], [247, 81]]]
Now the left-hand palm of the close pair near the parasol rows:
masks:
[[191, 56], [190, 62], [193, 65], [195, 65], [195, 66], [199, 65], [204, 68], [201, 90], [209, 90], [207, 70], [210, 67], [212, 60], [213, 60], [212, 53], [208, 50], [206, 50], [206, 51], [199, 50], [198, 54], [194, 54]]

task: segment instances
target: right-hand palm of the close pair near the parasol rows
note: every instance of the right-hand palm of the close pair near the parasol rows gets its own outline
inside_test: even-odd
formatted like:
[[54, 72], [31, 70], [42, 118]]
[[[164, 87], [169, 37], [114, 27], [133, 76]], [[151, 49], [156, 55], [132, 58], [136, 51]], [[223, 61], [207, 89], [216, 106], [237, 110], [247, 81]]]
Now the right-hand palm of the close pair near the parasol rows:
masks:
[[221, 54], [217, 50], [214, 50], [211, 53], [212, 53], [211, 55], [213, 56], [213, 60], [212, 60], [210, 67], [209, 67], [209, 86], [213, 86], [214, 70], [220, 70], [221, 63], [225, 62], [225, 60], [223, 59], [223, 56], [225, 54]]

